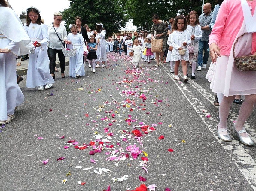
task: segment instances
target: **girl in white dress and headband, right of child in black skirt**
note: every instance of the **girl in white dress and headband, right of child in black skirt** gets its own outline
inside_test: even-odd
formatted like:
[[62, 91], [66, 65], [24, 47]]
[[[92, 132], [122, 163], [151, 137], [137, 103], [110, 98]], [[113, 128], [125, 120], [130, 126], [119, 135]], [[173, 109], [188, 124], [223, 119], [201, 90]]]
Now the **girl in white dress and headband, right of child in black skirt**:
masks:
[[[97, 65], [96, 68], [105, 67], [105, 62], [107, 61], [107, 53], [106, 53], [106, 30], [103, 28], [101, 23], [96, 24], [96, 31], [93, 31], [96, 34], [96, 42], [98, 43], [98, 49], [96, 50], [97, 53]], [[101, 66], [99, 63], [102, 62]]]

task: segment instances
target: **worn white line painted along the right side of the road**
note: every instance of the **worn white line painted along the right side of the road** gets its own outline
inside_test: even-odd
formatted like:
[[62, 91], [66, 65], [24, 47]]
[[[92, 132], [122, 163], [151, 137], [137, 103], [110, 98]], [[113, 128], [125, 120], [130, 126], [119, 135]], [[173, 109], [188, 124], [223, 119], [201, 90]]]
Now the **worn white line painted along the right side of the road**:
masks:
[[[244, 147], [247, 147], [247, 146], [243, 145], [240, 141], [237, 141], [235, 139], [233, 139], [232, 142], [224, 142], [220, 140], [215, 132], [215, 127], [212, 128], [212, 122], [215, 121], [215, 125], [217, 125], [218, 121], [216, 121], [214, 118], [206, 118], [206, 116], [204, 116], [205, 114], [203, 115], [202, 111], [204, 110], [205, 112], [207, 112], [207, 109], [197, 99], [197, 97], [195, 97], [194, 94], [187, 88], [187, 86], [184, 85], [184, 82], [176, 81], [174, 79], [174, 76], [170, 75], [169, 72], [167, 72], [169, 70], [165, 66], [162, 66], [162, 68], [167, 73], [167, 75], [173, 80], [173, 82], [178, 86], [178, 88], [181, 90], [183, 95], [187, 98], [191, 106], [195, 109], [197, 114], [200, 116], [200, 118], [203, 120], [203, 122], [206, 124], [206, 126], [209, 128], [209, 130], [212, 132], [212, 134], [221, 144], [221, 146], [226, 150], [230, 158], [234, 161], [237, 168], [240, 170], [240, 172], [242, 172], [242, 174], [244, 175], [245, 179], [248, 181], [250, 186], [254, 189], [254, 191], [256, 191], [256, 174], [255, 174], [256, 162], [251, 157], [251, 155], [248, 154], [248, 152], [245, 150]], [[196, 85], [196, 82], [193, 82], [191, 79], [189, 83], [192, 86]], [[197, 85], [197, 87], [199, 88], [199, 85]], [[202, 89], [203, 88], [201, 87], [201, 90]], [[209, 96], [209, 93], [207, 95]], [[212, 95], [211, 97], [213, 99]], [[209, 96], [209, 99], [211, 100], [210, 96]], [[243, 167], [240, 167], [240, 164], [243, 164]], [[244, 166], [246, 166], [246, 168], [244, 168]]]

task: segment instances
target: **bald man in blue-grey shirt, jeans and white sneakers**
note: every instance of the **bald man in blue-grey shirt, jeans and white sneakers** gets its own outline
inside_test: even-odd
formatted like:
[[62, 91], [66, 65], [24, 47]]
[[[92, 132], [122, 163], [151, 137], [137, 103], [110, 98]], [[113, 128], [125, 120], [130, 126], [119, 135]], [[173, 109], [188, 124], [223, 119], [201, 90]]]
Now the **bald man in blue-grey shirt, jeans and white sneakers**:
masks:
[[[202, 34], [203, 37], [201, 40], [199, 40], [199, 51], [198, 51], [198, 68], [197, 71], [201, 71], [202, 68], [206, 68], [206, 64], [209, 57], [209, 36], [212, 32], [210, 23], [212, 20], [212, 5], [210, 3], [206, 3], [203, 6], [203, 14], [199, 16], [199, 23], [201, 25]], [[203, 50], [204, 50], [204, 56], [203, 56]]]

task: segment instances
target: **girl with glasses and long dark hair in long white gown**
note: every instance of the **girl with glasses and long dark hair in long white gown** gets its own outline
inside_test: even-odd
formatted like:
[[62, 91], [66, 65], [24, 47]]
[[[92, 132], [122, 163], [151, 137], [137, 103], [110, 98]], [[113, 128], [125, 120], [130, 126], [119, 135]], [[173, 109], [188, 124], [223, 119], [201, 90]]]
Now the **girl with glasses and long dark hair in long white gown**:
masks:
[[50, 60], [47, 54], [48, 26], [43, 24], [39, 11], [31, 7], [27, 9], [27, 22], [24, 27], [31, 41], [37, 42], [34, 44], [35, 53], [29, 56], [26, 87], [40, 86], [38, 90], [49, 89], [54, 79], [50, 74]]

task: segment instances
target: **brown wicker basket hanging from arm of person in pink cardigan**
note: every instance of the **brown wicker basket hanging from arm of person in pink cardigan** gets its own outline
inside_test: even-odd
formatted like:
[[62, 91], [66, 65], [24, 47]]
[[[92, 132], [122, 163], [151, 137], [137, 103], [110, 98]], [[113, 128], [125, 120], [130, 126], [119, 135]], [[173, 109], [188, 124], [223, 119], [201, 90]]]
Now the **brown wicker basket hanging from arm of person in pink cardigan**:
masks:
[[241, 56], [235, 57], [235, 46], [239, 38], [243, 35], [247, 34], [244, 33], [240, 37], [236, 39], [236, 42], [233, 46], [233, 56], [234, 56], [234, 63], [236, 64], [237, 70], [256, 70], [256, 56]]

